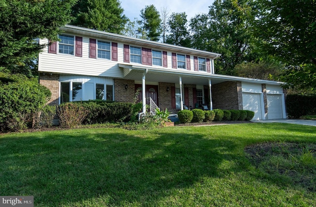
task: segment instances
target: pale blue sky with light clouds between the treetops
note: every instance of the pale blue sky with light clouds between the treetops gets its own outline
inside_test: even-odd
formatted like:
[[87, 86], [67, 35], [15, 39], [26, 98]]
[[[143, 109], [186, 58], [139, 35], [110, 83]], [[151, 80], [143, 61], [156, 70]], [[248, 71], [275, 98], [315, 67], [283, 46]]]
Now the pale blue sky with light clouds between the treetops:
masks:
[[208, 13], [209, 6], [214, 0], [120, 0], [120, 2], [124, 9], [123, 13], [131, 21], [134, 21], [134, 18], [140, 19], [140, 11], [151, 4], [155, 5], [159, 13], [164, 7], [169, 11], [169, 15], [172, 12], [186, 12], [187, 20], [190, 21], [196, 14]]

